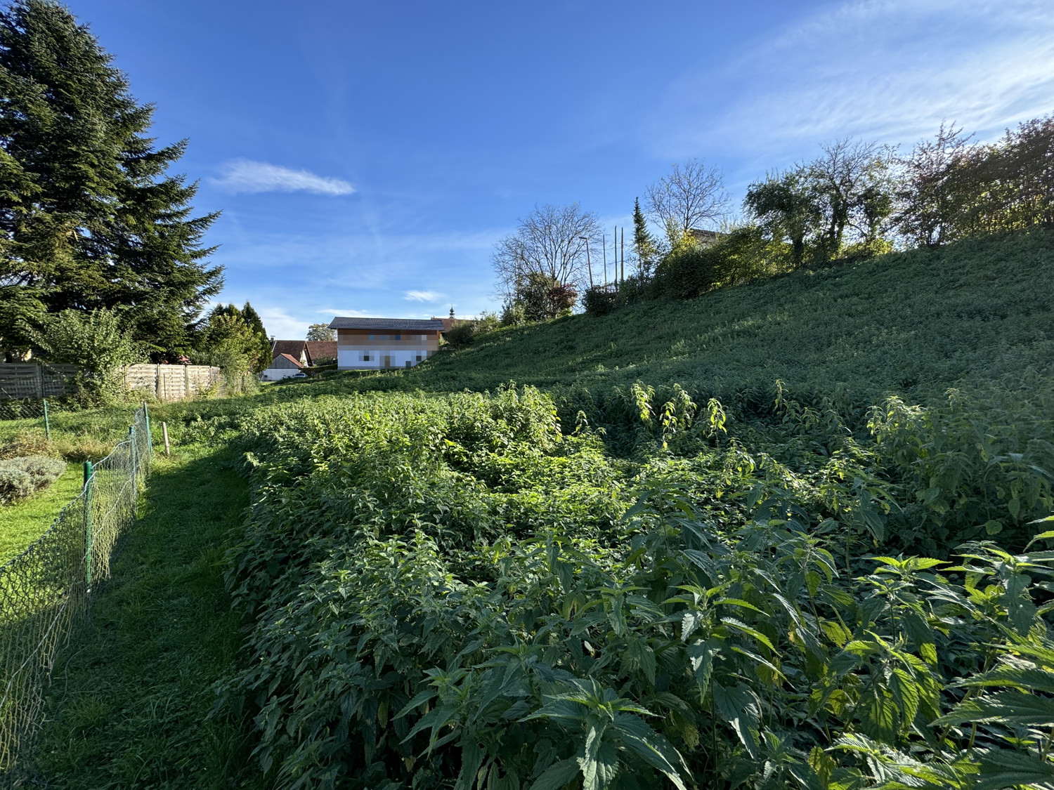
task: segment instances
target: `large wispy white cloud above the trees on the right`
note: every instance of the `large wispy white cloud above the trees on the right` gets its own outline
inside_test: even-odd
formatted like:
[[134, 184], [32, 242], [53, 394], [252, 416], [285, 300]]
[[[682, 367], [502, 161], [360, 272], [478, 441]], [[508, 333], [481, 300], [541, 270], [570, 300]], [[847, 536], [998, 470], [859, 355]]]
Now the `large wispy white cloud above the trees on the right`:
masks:
[[944, 119], [992, 136], [1051, 112], [1052, 97], [1049, 0], [855, 1], [720, 72], [682, 76], [647, 132], [659, 156], [709, 151], [769, 165], [838, 137], [912, 143]]

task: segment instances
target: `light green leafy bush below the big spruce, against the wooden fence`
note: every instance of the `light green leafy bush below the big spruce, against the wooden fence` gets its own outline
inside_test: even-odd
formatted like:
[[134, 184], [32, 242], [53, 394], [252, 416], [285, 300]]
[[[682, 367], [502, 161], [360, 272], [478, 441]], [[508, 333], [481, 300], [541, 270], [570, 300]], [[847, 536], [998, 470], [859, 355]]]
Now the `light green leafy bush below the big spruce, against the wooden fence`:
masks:
[[80, 368], [73, 389], [84, 404], [119, 399], [124, 392], [124, 368], [141, 361], [145, 353], [124, 331], [116, 311], [106, 309], [52, 314], [44, 331], [34, 333], [34, 341], [50, 361]]

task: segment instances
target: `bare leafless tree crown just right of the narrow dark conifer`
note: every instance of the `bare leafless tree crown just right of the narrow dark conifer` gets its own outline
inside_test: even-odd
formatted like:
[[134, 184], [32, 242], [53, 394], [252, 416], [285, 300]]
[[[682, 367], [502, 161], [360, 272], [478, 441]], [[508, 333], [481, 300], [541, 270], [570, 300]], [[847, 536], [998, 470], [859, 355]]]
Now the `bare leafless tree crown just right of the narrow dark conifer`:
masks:
[[728, 193], [721, 172], [699, 159], [675, 164], [668, 176], [647, 187], [646, 195], [648, 213], [667, 235], [683, 236], [727, 214]]

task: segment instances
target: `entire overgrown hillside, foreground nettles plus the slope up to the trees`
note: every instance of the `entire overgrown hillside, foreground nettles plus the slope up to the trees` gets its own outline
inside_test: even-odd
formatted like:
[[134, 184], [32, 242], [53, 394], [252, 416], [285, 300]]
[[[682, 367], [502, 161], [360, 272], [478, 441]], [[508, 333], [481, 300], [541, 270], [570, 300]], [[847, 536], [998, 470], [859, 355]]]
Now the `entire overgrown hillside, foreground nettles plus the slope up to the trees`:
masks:
[[264, 778], [1046, 786], [1052, 284], [968, 240], [189, 410]]

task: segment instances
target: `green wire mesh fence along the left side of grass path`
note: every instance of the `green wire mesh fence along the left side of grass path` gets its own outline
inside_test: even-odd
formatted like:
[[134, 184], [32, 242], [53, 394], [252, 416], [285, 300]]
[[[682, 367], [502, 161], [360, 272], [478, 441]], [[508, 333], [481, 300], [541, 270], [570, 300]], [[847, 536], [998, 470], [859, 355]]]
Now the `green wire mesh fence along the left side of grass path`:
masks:
[[129, 436], [89, 467], [81, 493], [28, 549], [0, 568], [0, 786], [28, 769], [58, 653], [86, 619], [92, 595], [135, 519], [150, 473], [150, 417], [138, 409]]

